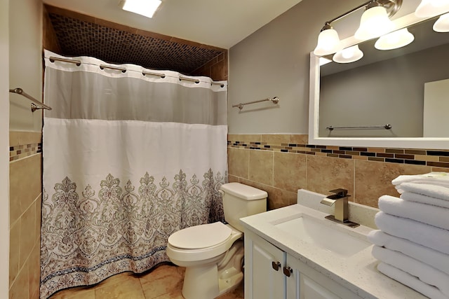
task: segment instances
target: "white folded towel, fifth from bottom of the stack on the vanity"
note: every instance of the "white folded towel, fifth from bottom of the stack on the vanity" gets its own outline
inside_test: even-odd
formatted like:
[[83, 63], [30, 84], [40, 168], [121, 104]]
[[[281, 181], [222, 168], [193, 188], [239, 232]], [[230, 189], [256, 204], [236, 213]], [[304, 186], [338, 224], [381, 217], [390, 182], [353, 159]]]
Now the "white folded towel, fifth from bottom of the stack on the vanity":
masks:
[[379, 198], [379, 209], [390, 215], [409, 218], [449, 230], [449, 209], [443, 207], [408, 202], [398, 197], [382, 195]]

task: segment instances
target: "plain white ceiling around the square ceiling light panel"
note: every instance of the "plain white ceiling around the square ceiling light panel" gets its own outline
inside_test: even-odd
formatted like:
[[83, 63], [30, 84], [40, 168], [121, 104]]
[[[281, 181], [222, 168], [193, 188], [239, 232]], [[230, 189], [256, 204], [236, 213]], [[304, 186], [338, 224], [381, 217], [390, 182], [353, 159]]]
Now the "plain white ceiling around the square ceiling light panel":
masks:
[[209, 46], [231, 48], [302, 0], [162, 0], [152, 19], [123, 11], [121, 0], [43, 3]]

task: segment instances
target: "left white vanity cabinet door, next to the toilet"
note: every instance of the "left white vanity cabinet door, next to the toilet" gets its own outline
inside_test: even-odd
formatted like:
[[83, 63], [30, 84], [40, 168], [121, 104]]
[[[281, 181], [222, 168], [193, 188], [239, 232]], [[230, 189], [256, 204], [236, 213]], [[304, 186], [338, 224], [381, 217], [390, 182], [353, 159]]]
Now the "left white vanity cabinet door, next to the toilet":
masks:
[[284, 251], [251, 232], [245, 232], [245, 298], [283, 299]]

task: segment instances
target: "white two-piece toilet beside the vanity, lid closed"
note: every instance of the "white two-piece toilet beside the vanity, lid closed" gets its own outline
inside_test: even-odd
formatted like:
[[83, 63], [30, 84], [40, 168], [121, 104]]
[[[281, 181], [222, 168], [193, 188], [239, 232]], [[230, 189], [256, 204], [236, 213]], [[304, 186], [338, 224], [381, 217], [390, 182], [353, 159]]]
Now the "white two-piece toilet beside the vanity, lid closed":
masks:
[[267, 211], [267, 192], [241, 183], [220, 187], [225, 221], [192, 226], [168, 237], [167, 256], [185, 267], [182, 295], [211, 299], [243, 279], [243, 226], [239, 219]]

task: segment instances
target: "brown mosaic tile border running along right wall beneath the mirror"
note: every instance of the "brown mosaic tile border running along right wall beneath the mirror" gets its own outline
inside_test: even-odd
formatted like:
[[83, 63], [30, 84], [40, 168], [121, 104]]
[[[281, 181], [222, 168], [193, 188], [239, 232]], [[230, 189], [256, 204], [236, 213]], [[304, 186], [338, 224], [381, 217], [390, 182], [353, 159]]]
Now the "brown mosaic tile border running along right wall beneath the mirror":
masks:
[[313, 144], [274, 144], [260, 141], [228, 140], [233, 148], [321, 155], [333, 158], [357, 159], [387, 163], [427, 165], [449, 168], [449, 151], [410, 148], [368, 148], [348, 146], [317, 146]]

